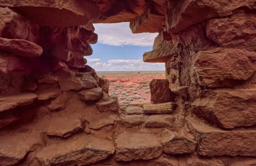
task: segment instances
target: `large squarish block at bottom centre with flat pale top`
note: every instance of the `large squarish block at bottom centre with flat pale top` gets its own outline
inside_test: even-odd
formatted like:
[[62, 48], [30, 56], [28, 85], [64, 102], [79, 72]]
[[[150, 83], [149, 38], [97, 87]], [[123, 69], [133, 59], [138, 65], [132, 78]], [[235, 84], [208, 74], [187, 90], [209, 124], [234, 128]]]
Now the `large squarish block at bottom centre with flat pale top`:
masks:
[[159, 157], [163, 146], [152, 134], [122, 132], [115, 140], [116, 160], [150, 160]]

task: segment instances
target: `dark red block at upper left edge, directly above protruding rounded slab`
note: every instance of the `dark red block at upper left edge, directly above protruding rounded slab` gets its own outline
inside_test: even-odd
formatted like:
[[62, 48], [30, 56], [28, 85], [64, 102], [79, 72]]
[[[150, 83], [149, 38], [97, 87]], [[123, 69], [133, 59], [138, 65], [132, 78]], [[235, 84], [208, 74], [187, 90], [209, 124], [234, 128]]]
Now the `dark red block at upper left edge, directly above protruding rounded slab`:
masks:
[[37, 42], [39, 26], [36, 23], [7, 7], [0, 8], [0, 15], [0, 37]]

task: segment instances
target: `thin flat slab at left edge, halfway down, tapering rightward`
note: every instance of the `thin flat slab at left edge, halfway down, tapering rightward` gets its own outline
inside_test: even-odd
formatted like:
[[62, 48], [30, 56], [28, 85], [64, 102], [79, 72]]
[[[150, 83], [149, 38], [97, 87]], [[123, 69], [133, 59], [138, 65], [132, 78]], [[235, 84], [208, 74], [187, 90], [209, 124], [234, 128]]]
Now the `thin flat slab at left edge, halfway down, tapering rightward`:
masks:
[[36, 98], [37, 95], [34, 93], [19, 93], [15, 95], [1, 96], [0, 112], [31, 104]]

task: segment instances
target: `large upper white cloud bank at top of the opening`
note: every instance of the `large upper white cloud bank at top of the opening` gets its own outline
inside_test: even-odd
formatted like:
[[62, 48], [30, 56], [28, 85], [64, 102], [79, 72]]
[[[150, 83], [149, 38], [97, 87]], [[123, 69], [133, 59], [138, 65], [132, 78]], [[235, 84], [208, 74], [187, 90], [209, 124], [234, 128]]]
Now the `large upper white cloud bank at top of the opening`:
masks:
[[157, 33], [132, 34], [129, 23], [93, 24], [98, 42], [106, 45], [151, 46]]

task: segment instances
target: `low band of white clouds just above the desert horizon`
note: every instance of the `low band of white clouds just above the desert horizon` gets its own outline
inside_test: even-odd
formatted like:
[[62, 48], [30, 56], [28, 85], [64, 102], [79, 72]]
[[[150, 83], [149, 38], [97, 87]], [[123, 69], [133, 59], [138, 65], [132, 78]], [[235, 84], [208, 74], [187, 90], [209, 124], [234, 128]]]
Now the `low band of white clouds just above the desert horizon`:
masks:
[[146, 63], [142, 59], [111, 59], [107, 63], [88, 61], [96, 71], [144, 71], [165, 70], [164, 63]]

